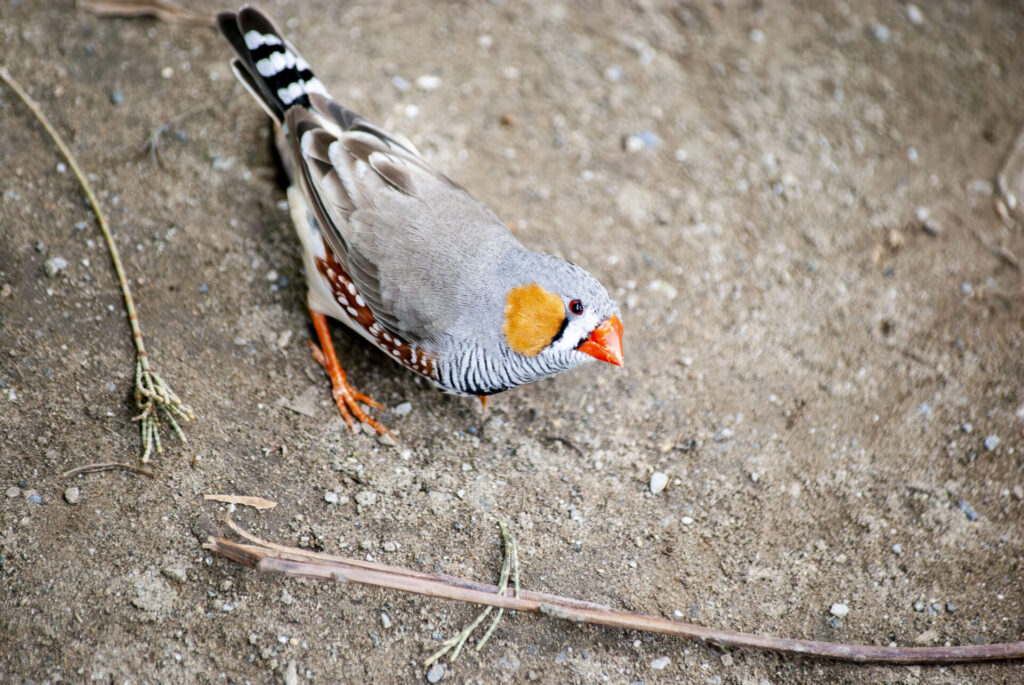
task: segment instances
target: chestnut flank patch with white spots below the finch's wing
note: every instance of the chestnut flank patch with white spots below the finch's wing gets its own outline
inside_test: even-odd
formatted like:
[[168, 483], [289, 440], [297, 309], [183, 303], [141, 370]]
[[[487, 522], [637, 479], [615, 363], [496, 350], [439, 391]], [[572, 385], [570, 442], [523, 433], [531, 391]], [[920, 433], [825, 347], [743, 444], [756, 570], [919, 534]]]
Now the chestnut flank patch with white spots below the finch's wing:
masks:
[[388, 333], [377, 323], [374, 312], [355, 290], [345, 269], [325, 247], [326, 257], [315, 257], [316, 270], [331, 286], [335, 301], [348, 314], [350, 325], [358, 327], [381, 350], [410, 371], [439, 384], [437, 362], [434, 356], [419, 345], [411, 345]]

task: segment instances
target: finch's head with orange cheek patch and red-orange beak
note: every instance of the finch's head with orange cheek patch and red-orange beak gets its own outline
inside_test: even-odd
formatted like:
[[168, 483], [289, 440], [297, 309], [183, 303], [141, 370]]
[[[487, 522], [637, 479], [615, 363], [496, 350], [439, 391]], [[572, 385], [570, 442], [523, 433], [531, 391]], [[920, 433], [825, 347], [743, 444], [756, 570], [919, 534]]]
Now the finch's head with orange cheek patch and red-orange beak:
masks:
[[508, 346], [550, 370], [545, 375], [594, 359], [623, 366], [623, 325], [607, 291], [575, 264], [549, 260], [543, 274], [505, 297]]

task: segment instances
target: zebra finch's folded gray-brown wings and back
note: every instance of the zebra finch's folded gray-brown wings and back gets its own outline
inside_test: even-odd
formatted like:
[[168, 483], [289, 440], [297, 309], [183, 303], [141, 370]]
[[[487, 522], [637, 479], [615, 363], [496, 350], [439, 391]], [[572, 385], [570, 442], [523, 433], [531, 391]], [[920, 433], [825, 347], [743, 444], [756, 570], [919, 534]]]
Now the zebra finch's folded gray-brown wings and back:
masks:
[[438, 340], [480, 305], [489, 270], [518, 242], [412, 143], [311, 99], [311, 110], [289, 110], [286, 124], [328, 246], [381, 326], [407, 342]]

